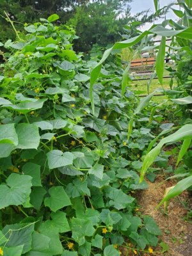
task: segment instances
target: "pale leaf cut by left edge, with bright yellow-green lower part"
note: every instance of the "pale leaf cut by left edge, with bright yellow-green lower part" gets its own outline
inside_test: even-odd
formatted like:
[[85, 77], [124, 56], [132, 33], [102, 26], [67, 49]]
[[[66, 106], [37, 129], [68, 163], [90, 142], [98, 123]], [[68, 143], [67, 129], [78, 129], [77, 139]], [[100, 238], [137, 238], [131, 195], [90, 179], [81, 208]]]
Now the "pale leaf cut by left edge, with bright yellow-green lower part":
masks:
[[15, 131], [15, 124], [0, 125], [0, 143], [18, 145], [18, 137]]

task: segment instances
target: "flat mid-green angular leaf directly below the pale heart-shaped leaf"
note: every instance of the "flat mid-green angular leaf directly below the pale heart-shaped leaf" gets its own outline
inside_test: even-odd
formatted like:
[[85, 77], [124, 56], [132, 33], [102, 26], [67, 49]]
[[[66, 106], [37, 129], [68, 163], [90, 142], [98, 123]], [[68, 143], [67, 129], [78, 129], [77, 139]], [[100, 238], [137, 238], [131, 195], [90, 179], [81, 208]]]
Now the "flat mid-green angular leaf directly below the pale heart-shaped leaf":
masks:
[[51, 209], [51, 211], [56, 212], [67, 205], [71, 205], [67, 193], [61, 186], [50, 188], [49, 195], [50, 197], [46, 197], [44, 203], [45, 206], [48, 206]]

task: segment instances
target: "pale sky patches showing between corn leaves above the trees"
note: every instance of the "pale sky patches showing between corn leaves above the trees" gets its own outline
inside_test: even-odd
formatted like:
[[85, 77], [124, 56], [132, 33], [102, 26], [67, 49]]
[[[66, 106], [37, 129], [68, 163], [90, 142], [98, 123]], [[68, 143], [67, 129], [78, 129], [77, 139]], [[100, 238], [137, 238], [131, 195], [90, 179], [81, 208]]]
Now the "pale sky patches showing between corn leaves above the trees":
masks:
[[[163, 6], [166, 6], [169, 3], [172, 3], [173, 0], [160, 0], [160, 8], [162, 8]], [[138, 12], [141, 12], [143, 10], [148, 10], [150, 9], [151, 12], [155, 12], [155, 6], [154, 6], [154, 0], [133, 0], [132, 3], [130, 3], [131, 5], [131, 14], [136, 14]], [[174, 6], [173, 8], [177, 9], [177, 6]], [[166, 19], [177, 19], [177, 16], [173, 13], [173, 11], [171, 10], [170, 12], [168, 12], [166, 14]], [[154, 23], [161, 23], [163, 21], [163, 19], [159, 19], [156, 20]], [[141, 28], [142, 31], [149, 29], [152, 26], [152, 24], [145, 24], [145, 26], [143, 26]]]

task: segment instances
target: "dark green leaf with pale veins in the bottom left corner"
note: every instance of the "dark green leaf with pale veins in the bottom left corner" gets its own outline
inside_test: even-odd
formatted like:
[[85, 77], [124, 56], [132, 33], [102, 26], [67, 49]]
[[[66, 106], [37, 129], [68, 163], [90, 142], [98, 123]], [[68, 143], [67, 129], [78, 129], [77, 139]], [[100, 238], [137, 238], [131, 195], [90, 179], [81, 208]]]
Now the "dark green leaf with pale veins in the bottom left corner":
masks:
[[8, 238], [6, 247], [23, 246], [22, 254], [31, 250], [34, 223], [6, 225], [3, 234]]

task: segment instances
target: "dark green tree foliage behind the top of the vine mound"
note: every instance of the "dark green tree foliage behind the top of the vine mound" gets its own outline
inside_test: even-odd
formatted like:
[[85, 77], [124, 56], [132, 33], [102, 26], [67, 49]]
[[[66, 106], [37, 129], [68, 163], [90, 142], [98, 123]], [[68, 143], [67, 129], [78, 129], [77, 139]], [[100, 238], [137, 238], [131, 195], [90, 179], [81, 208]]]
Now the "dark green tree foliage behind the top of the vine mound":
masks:
[[[22, 31], [23, 24], [38, 22], [53, 13], [60, 16], [60, 24], [76, 28], [79, 39], [76, 51], [89, 51], [93, 44], [106, 46], [120, 40], [124, 27], [132, 21], [151, 21], [148, 12], [131, 15], [132, 0], [2, 0], [0, 3], [0, 42], [15, 39], [13, 28], [6, 20], [4, 11], [13, 20], [15, 28]], [[147, 15], [146, 15], [147, 13]]]

